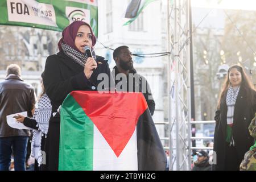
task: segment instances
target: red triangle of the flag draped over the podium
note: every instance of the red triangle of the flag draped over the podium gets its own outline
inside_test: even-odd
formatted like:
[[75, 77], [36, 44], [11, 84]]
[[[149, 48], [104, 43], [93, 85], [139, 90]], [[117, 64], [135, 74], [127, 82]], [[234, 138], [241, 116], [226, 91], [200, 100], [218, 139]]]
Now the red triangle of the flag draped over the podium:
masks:
[[71, 95], [118, 157], [133, 135], [139, 117], [147, 109], [143, 94], [76, 91]]

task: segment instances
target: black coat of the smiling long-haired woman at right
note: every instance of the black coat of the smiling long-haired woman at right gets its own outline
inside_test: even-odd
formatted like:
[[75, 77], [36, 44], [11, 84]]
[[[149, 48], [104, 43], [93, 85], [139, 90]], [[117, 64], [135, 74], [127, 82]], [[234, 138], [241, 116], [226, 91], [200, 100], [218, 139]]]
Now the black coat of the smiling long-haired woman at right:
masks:
[[[225, 146], [226, 146], [226, 114], [228, 107], [226, 105], [226, 94], [221, 99], [220, 109], [216, 111], [214, 120], [216, 121], [214, 131], [214, 147], [216, 152], [217, 164], [213, 165], [214, 170], [225, 170]], [[254, 92], [256, 98], [256, 92]], [[245, 94], [245, 89], [240, 88], [234, 108], [234, 123], [232, 127], [233, 139], [236, 146], [238, 160], [242, 162], [243, 156], [250, 146], [253, 145], [253, 137], [250, 136], [248, 127], [251, 119], [254, 117], [256, 111], [256, 103], [249, 104]]]

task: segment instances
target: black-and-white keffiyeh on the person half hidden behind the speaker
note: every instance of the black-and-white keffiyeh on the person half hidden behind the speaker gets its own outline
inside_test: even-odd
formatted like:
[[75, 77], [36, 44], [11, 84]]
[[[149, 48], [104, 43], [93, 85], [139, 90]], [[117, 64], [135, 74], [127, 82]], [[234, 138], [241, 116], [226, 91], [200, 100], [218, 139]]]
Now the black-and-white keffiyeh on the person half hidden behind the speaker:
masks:
[[43, 94], [35, 105], [33, 119], [35, 119], [35, 121], [38, 123], [38, 125], [36, 125], [38, 126], [38, 130], [33, 130], [30, 154], [31, 157], [34, 157], [38, 161], [38, 166], [43, 163], [41, 141], [42, 135], [47, 135], [51, 111], [51, 101], [46, 94]]

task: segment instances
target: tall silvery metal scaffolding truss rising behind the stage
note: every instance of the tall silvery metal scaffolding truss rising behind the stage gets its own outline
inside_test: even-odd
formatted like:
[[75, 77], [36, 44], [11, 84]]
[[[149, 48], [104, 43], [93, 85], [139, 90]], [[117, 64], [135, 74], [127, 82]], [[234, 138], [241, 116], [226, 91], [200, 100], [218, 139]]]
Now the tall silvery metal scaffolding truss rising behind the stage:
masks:
[[170, 170], [191, 169], [189, 0], [168, 1]]

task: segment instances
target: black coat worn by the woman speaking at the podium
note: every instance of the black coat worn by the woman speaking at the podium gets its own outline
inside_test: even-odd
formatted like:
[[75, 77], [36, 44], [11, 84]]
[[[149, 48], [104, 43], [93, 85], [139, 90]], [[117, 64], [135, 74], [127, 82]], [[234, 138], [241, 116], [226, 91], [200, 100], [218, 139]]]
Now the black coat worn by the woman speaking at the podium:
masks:
[[[55, 113], [62, 104], [65, 97], [73, 90], [97, 90], [101, 80], [97, 80], [100, 73], [108, 74], [111, 78], [109, 65], [104, 57], [97, 56], [96, 62], [100, 61], [98, 67], [93, 71], [88, 80], [84, 74], [84, 68], [70, 59], [64, 52], [47, 57], [44, 69], [43, 83], [46, 94], [51, 100], [52, 113]], [[94, 87], [95, 86], [95, 87]], [[94, 89], [96, 88], [96, 89]], [[60, 114], [57, 113], [49, 120], [46, 146], [46, 165], [44, 170], [57, 170], [59, 164], [59, 142], [60, 142]]]

